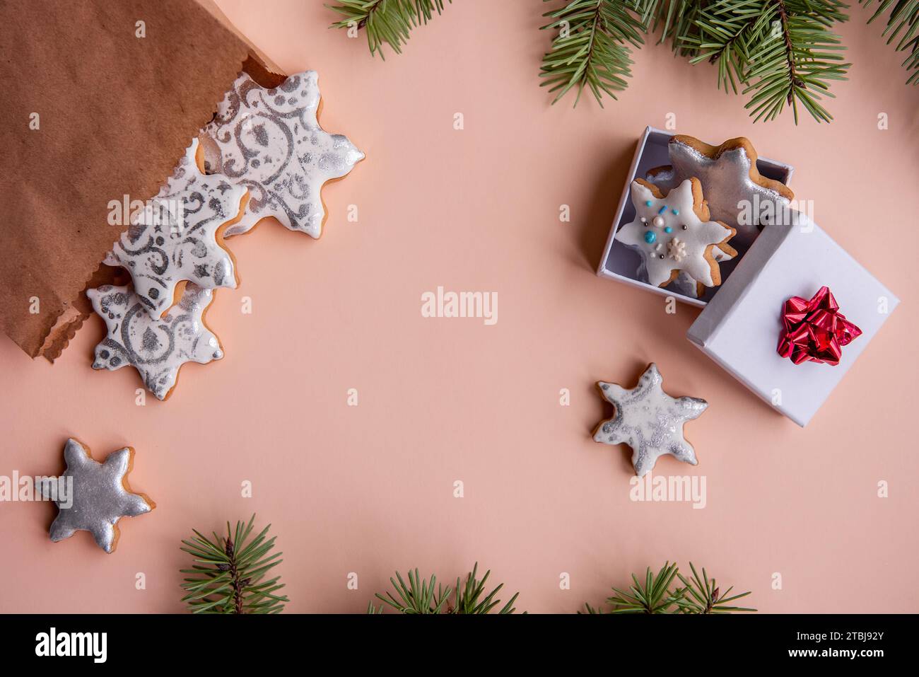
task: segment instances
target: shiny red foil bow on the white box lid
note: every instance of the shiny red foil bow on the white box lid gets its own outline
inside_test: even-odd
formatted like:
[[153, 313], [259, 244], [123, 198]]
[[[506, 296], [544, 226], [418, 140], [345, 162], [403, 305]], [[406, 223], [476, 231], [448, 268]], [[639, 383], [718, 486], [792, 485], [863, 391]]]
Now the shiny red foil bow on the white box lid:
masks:
[[839, 312], [829, 287], [821, 287], [810, 301], [792, 296], [785, 302], [782, 325], [778, 354], [795, 364], [810, 360], [835, 366], [843, 346], [861, 336], [861, 329]]

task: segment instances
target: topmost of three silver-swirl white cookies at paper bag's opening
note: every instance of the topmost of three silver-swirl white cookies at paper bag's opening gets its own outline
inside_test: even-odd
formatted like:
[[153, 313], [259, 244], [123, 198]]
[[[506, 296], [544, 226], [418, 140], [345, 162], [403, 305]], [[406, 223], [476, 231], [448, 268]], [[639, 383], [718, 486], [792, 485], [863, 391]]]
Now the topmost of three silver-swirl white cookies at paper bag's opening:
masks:
[[321, 235], [323, 184], [344, 177], [364, 154], [319, 126], [317, 79], [305, 71], [266, 89], [243, 73], [204, 128], [208, 171], [250, 191], [243, 218], [226, 235], [246, 233], [266, 216], [290, 230]]

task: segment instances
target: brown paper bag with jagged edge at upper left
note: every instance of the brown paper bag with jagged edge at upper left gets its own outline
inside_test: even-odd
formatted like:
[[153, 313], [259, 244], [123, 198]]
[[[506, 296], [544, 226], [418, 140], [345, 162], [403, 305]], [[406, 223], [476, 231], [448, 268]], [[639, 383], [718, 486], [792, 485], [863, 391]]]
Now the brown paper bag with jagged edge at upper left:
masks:
[[0, 0], [0, 324], [54, 360], [124, 225], [236, 75], [284, 78], [212, 0]]

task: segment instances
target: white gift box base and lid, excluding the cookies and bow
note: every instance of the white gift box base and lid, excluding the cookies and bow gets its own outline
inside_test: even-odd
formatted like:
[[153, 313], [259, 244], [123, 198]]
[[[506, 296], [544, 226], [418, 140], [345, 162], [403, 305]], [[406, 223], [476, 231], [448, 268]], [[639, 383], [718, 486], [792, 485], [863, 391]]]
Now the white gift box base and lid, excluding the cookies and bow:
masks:
[[[899, 299], [820, 226], [797, 212], [794, 219], [779, 218], [766, 225], [746, 251], [722, 263], [720, 287], [707, 290], [700, 299], [679, 293], [673, 285], [662, 289], [638, 279], [639, 255], [614, 236], [619, 226], [635, 217], [632, 180], [643, 178], [654, 166], [669, 164], [671, 136], [651, 127], [641, 136], [597, 275], [702, 307], [686, 337], [771, 407], [805, 426]], [[785, 184], [791, 178], [792, 167], [774, 160], [760, 157], [756, 167], [763, 176]], [[862, 333], [845, 346], [838, 364], [795, 364], [777, 352], [784, 305], [794, 296], [811, 299], [823, 286], [830, 288], [839, 312]]]

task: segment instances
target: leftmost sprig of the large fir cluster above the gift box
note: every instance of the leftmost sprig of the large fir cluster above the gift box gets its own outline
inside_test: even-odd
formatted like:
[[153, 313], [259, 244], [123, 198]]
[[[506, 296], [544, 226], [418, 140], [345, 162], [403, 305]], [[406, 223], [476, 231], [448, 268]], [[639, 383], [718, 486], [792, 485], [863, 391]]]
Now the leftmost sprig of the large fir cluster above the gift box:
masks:
[[[548, 2], [549, 0], [544, 0]], [[554, 104], [572, 88], [577, 88], [574, 105], [584, 87], [590, 89], [600, 107], [603, 95], [612, 98], [628, 86], [631, 76], [631, 50], [644, 43], [646, 32], [632, 0], [566, 0], [564, 6], [543, 17], [550, 23], [542, 29], [558, 30], [549, 52], [542, 58], [540, 86], [556, 92]]]

